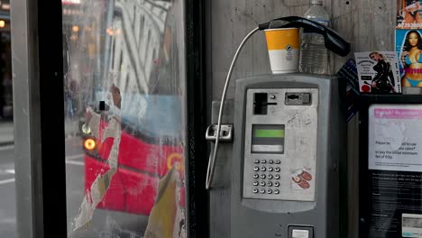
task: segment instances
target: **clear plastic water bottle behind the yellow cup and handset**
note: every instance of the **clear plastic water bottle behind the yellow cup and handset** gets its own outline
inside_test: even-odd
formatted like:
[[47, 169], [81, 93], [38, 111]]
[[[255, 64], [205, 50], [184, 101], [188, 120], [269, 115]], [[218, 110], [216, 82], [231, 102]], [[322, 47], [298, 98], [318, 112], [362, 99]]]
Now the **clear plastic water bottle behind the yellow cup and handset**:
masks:
[[[324, 0], [311, 0], [311, 7], [305, 18], [331, 26], [330, 16], [323, 7]], [[304, 29], [301, 37], [299, 71], [310, 74], [330, 74], [328, 68], [328, 50], [324, 45], [324, 36]]]

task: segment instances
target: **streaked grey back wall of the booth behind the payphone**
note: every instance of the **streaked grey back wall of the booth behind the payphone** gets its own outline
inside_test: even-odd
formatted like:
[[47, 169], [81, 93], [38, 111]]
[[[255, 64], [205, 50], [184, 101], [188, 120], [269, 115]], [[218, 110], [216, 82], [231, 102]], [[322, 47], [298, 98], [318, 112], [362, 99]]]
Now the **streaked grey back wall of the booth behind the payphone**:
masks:
[[[305, 14], [309, 0], [212, 0], [206, 1], [206, 86], [208, 113], [211, 102], [219, 101], [234, 52], [243, 37], [258, 23], [288, 15]], [[335, 73], [354, 51], [394, 50], [394, 26], [397, 0], [326, 0], [326, 11], [331, 14], [333, 28], [352, 43], [351, 53], [344, 58], [335, 56], [330, 66]], [[263, 32], [257, 32], [243, 47], [234, 68], [227, 98], [234, 97], [234, 80], [270, 72]], [[212, 90], [212, 91], [210, 91]], [[348, 160], [350, 174], [357, 169], [357, 121], [349, 123]], [[218, 164], [230, 166], [230, 151], [219, 152]], [[218, 168], [217, 168], [218, 169]], [[229, 168], [225, 167], [225, 170]], [[354, 172], [353, 172], [354, 171]], [[230, 236], [230, 181], [223, 179], [210, 192], [210, 237]], [[357, 178], [350, 179], [351, 217], [356, 216], [357, 197], [353, 189]], [[227, 200], [228, 199], [228, 200]], [[228, 201], [228, 202], [227, 202]], [[350, 221], [349, 237], [357, 237], [355, 220]]]

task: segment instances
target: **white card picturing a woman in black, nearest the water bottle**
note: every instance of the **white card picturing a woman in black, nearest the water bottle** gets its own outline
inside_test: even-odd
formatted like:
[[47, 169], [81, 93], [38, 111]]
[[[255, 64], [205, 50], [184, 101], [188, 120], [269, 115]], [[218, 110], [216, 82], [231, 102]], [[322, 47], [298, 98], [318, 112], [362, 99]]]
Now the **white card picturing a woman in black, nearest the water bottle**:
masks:
[[370, 94], [401, 93], [399, 60], [396, 52], [355, 52], [354, 57], [360, 92]]

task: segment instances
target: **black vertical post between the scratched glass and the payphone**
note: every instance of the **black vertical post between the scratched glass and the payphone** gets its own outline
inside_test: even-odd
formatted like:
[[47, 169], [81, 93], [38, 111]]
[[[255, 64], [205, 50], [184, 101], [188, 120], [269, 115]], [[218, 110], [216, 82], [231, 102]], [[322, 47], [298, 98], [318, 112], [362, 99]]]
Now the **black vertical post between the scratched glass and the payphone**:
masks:
[[206, 78], [205, 3], [186, 0], [186, 66], [188, 142], [186, 152], [188, 237], [209, 237], [208, 195], [206, 192]]

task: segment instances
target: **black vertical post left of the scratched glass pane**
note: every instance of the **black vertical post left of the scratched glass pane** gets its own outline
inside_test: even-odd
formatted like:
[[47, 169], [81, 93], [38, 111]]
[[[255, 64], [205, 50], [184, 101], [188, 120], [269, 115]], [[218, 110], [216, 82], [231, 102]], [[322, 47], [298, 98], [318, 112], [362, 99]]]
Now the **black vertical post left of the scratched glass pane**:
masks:
[[[67, 237], [61, 1], [37, 1], [40, 82], [41, 188], [43, 237]], [[37, 104], [37, 102], [32, 102]], [[53, 148], [53, 150], [51, 150]], [[35, 228], [38, 229], [38, 228]], [[37, 236], [38, 237], [38, 236]]]

